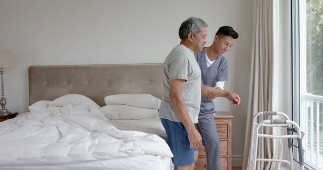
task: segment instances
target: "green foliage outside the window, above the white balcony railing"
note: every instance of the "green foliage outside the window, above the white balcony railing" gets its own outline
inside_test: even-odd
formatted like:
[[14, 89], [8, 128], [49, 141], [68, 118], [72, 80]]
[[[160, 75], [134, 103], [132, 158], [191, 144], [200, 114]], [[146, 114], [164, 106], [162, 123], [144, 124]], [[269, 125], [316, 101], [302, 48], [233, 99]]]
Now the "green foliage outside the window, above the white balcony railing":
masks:
[[307, 93], [323, 96], [323, 0], [307, 0]]

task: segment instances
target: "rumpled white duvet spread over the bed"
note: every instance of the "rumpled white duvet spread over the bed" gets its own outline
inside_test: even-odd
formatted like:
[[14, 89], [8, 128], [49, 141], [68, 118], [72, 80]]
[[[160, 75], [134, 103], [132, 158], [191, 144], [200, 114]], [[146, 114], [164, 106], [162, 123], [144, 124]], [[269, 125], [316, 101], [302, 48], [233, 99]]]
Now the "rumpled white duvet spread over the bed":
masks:
[[63, 164], [142, 154], [173, 156], [165, 140], [119, 130], [97, 108], [48, 107], [0, 123], [1, 165]]

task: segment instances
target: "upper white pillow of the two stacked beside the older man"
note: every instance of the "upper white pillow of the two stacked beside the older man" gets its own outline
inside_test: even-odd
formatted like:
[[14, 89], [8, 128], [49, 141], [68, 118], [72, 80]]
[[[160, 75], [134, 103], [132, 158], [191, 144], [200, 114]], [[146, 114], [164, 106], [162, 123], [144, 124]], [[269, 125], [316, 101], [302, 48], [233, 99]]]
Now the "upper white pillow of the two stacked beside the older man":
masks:
[[119, 94], [104, 98], [106, 105], [122, 104], [140, 108], [159, 109], [160, 100], [150, 94]]

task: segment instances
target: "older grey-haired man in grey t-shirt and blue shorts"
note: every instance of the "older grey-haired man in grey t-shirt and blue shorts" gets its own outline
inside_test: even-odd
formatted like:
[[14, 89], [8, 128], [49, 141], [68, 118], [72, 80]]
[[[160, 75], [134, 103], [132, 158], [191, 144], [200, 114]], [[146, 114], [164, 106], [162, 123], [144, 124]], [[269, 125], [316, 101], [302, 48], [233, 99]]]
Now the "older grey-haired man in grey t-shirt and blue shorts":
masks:
[[194, 124], [201, 102], [201, 70], [194, 52], [206, 43], [207, 24], [196, 17], [185, 20], [180, 29], [181, 42], [164, 62], [164, 95], [159, 117], [174, 154], [173, 163], [180, 169], [194, 169], [197, 147], [202, 138]]

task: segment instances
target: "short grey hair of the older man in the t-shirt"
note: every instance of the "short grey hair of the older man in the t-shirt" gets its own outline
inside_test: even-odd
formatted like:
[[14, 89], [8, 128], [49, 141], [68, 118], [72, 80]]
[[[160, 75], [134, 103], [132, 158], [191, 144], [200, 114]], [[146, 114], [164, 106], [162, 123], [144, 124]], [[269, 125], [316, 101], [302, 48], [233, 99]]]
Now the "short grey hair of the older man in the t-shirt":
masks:
[[199, 32], [202, 31], [202, 27], [207, 27], [208, 25], [202, 20], [197, 17], [190, 17], [185, 20], [180, 29], [178, 30], [178, 35], [180, 39], [185, 40], [187, 38], [188, 33], [193, 33], [196, 36]]

